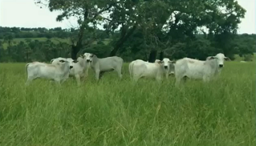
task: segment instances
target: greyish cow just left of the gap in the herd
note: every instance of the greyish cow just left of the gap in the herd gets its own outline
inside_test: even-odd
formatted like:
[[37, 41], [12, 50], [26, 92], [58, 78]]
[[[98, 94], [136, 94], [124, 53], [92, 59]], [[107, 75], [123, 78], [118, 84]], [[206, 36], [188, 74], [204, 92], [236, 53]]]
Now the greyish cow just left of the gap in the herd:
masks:
[[103, 73], [108, 71], [116, 71], [120, 79], [122, 78], [122, 65], [124, 60], [118, 56], [111, 56], [99, 59], [95, 54], [90, 56], [91, 68], [95, 72], [96, 80], [99, 80]]

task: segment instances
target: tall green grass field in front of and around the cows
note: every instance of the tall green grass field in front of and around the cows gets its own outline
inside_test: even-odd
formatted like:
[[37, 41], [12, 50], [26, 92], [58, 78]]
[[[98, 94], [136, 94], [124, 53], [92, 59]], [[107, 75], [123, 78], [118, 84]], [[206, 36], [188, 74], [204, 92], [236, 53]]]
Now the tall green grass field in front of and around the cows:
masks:
[[142, 79], [133, 85], [90, 71], [81, 87], [35, 80], [25, 63], [1, 63], [0, 145], [255, 145], [255, 63], [226, 62], [209, 84], [173, 87]]

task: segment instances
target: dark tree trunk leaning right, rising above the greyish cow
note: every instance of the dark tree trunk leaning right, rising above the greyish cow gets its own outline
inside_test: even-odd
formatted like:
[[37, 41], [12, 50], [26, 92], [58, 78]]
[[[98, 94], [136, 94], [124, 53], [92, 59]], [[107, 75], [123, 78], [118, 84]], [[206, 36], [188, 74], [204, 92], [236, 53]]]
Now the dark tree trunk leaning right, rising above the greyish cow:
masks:
[[120, 49], [124, 42], [133, 34], [134, 30], [136, 30], [136, 24], [129, 30], [129, 32], [122, 32], [122, 36], [118, 39], [117, 43], [115, 43], [115, 47], [110, 52], [110, 56], [115, 56], [115, 54], [117, 54], [118, 49]]

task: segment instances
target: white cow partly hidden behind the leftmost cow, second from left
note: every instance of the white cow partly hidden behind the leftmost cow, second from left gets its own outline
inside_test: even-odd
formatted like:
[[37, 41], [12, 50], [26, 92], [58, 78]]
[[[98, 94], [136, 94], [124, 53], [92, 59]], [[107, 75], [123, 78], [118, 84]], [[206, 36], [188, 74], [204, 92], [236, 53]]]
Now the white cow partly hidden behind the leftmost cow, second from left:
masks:
[[[52, 64], [57, 63], [61, 59], [61, 57], [54, 59], [52, 61]], [[86, 63], [86, 59], [78, 57], [78, 59], [76, 60], [73, 60], [71, 58], [68, 58], [66, 60], [69, 61], [71, 66], [73, 66], [73, 68], [71, 68], [70, 70], [69, 76], [74, 76], [76, 78], [77, 84], [81, 85], [81, 79], [84, 79], [86, 77], [86, 66], [88, 65], [88, 63]]]

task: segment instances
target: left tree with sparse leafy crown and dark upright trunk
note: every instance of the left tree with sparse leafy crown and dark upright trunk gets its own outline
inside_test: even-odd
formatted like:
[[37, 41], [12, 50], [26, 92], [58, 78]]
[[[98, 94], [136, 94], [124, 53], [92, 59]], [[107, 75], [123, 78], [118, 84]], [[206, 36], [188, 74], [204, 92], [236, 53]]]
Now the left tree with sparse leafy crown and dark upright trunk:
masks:
[[[117, 0], [35, 0], [36, 4], [43, 4], [50, 8], [50, 11], [61, 11], [57, 21], [74, 16], [78, 19], [78, 35], [76, 41], [72, 41], [71, 58], [76, 59], [78, 51], [83, 47], [83, 34], [85, 30], [93, 32], [98, 21], [101, 20], [104, 12], [110, 10]], [[93, 26], [91, 26], [93, 25]], [[92, 38], [92, 43], [95, 38]]]

